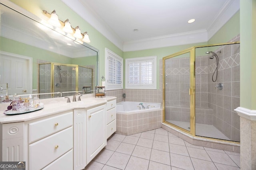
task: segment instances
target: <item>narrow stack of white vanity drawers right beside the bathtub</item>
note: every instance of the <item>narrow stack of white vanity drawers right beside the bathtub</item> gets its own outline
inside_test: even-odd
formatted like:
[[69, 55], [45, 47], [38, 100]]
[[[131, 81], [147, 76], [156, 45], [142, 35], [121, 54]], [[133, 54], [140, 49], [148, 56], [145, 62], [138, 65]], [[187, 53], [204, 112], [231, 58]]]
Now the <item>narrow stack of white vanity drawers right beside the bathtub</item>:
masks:
[[107, 102], [107, 139], [116, 131], [116, 100]]

